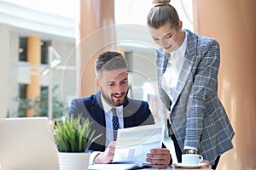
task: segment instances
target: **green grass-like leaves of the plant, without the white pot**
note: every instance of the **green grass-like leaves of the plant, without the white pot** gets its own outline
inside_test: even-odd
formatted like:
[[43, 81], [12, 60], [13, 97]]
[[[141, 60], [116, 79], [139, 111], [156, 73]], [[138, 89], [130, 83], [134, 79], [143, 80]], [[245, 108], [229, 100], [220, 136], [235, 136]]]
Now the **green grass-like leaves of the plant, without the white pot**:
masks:
[[81, 115], [67, 116], [65, 120], [56, 122], [55, 134], [59, 151], [84, 152], [88, 150], [90, 144], [102, 136], [99, 134], [94, 137], [95, 130], [90, 130], [91, 124], [88, 118]]

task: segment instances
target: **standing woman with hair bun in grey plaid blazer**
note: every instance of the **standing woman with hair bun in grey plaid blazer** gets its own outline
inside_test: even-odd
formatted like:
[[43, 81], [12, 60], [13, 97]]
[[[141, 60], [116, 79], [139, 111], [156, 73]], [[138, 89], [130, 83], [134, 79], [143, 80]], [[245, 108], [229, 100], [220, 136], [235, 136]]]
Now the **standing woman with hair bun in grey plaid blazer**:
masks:
[[234, 131], [218, 99], [218, 42], [183, 30], [170, 0], [153, 1], [148, 27], [156, 51], [160, 97], [170, 111], [171, 138], [177, 161], [200, 154], [213, 169], [233, 148]]

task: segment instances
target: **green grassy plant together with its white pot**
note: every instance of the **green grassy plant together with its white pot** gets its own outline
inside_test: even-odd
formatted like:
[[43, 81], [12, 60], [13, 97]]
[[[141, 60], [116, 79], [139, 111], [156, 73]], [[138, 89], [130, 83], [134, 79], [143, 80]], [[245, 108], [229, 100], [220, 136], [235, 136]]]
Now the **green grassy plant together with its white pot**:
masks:
[[55, 135], [58, 144], [60, 170], [88, 169], [90, 153], [86, 152], [96, 139], [95, 130], [91, 131], [92, 122], [82, 116], [67, 116], [56, 122]]

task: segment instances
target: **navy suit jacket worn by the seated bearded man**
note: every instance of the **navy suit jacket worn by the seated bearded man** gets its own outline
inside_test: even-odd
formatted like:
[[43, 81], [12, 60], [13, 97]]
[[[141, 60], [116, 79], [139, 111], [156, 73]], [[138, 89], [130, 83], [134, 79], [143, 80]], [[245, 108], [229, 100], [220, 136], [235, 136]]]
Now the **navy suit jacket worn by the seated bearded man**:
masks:
[[[154, 117], [147, 102], [127, 98], [123, 106], [124, 127], [154, 124]], [[100, 91], [89, 97], [73, 99], [67, 115], [78, 116], [79, 114], [88, 117], [90, 122], [93, 122], [91, 130], [96, 130], [95, 135], [102, 133], [102, 136], [90, 145], [90, 150], [104, 151], [106, 148], [106, 121]]]

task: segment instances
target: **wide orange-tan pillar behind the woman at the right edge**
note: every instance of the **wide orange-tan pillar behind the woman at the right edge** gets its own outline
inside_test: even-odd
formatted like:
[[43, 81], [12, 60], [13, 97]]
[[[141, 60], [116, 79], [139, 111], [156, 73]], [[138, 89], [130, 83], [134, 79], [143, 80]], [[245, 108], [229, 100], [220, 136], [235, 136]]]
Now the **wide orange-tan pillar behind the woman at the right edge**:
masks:
[[194, 0], [195, 31], [218, 40], [220, 99], [235, 130], [218, 169], [256, 168], [256, 22], [254, 0]]

